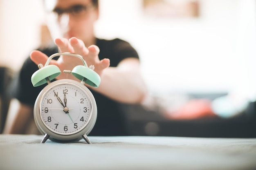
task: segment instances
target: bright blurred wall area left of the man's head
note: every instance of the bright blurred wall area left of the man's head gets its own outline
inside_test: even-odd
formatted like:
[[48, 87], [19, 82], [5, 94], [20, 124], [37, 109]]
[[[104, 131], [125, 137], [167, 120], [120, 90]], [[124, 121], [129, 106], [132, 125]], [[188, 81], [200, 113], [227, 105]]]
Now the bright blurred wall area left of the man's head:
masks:
[[40, 43], [41, 0], [0, 0], [0, 65], [18, 70]]

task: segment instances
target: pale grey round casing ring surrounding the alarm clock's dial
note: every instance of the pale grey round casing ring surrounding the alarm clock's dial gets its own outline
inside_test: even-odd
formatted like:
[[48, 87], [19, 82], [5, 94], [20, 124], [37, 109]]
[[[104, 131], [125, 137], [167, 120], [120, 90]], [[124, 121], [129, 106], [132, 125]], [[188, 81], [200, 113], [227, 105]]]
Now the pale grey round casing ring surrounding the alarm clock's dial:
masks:
[[[90, 112], [90, 117], [88, 119], [88, 122], [85, 125], [83, 125], [83, 127], [80, 128], [79, 130], [77, 130], [76, 132], [71, 132], [71, 133], [67, 133], [67, 134], [56, 132], [56, 131], [52, 130], [51, 128], [49, 128], [45, 124], [45, 122], [43, 121], [43, 119], [40, 115], [41, 100], [43, 99], [45, 94], [51, 88], [58, 86], [59, 84], [74, 84], [74, 85], [78, 86], [85, 92], [85, 94], [88, 96], [88, 98], [90, 100], [90, 105], [92, 107], [92, 110]], [[88, 135], [90, 133], [90, 131], [92, 130], [92, 128], [94, 127], [94, 124], [97, 119], [97, 105], [96, 105], [94, 96], [92, 95], [91, 91], [85, 85], [83, 85], [75, 80], [72, 80], [72, 79], [60, 79], [60, 80], [56, 80], [56, 81], [48, 84], [39, 93], [38, 97], [36, 98], [35, 105], [34, 105], [34, 119], [35, 119], [36, 126], [37, 126], [38, 130], [43, 135], [48, 134], [50, 136], [49, 139], [60, 140], [60, 141], [80, 140], [80, 139], [82, 139], [82, 136], [84, 134]]]

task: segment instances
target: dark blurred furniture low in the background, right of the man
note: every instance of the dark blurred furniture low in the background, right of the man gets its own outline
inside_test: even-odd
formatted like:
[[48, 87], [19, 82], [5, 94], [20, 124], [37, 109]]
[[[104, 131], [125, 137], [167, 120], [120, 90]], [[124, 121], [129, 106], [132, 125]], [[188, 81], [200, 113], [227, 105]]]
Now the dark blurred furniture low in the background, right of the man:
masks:
[[176, 137], [256, 137], [256, 103], [244, 113], [230, 118], [206, 117], [191, 120], [170, 120], [157, 111], [141, 105], [123, 105], [129, 135]]

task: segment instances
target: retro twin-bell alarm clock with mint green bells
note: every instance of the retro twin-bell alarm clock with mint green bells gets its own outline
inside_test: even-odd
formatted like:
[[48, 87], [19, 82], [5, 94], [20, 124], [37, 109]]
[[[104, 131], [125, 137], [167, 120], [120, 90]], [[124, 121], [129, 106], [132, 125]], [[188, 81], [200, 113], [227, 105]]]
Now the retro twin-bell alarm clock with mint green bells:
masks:
[[[49, 62], [60, 55], [79, 57], [82, 60], [83, 65], [75, 66], [72, 71], [63, 71], [72, 73], [81, 82], [72, 79], [51, 82], [61, 74], [61, 70], [56, 65], [49, 65]], [[48, 58], [45, 66], [39, 64], [38, 68], [31, 76], [33, 86], [47, 83], [34, 104], [34, 120], [38, 130], [44, 135], [41, 143], [45, 143], [47, 139], [57, 142], [85, 139], [91, 144], [87, 135], [96, 122], [97, 105], [91, 91], [84, 84], [99, 86], [101, 79], [93, 71], [94, 66], [88, 67], [81, 55], [55, 53]]]

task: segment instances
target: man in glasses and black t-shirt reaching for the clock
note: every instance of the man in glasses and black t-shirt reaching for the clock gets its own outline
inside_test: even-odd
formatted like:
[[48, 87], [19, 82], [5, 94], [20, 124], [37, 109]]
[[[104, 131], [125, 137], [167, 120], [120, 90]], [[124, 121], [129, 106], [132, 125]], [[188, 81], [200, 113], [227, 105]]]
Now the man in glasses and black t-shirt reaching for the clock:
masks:
[[[82, 55], [88, 65], [94, 65], [101, 77], [98, 88], [88, 86], [98, 107], [98, 117], [90, 135], [128, 135], [120, 103], [140, 103], [146, 94], [146, 87], [139, 73], [137, 52], [123, 40], [100, 40], [94, 36], [94, 22], [99, 17], [97, 0], [45, 0], [47, 11], [54, 13], [58, 33], [62, 38], [54, 40], [56, 46], [32, 51], [23, 64], [13, 85], [13, 97], [19, 101], [14, 115], [9, 113], [4, 133], [25, 133], [33, 118], [33, 106], [38, 93], [44, 86], [33, 87], [30, 78], [38, 70], [38, 64], [45, 64], [47, 56], [57, 52], [71, 52]], [[92, 45], [96, 44], [96, 45]], [[107, 59], [108, 58], [108, 59]], [[51, 60], [61, 71], [72, 70], [81, 65], [76, 57], [61, 56]], [[66, 78], [62, 73], [56, 79]], [[69, 75], [70, 79], [76, 79]], [[13, 114], [13, 113], [12, 113]]]

